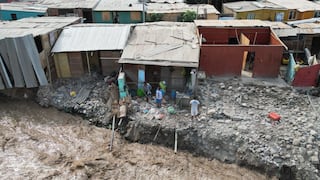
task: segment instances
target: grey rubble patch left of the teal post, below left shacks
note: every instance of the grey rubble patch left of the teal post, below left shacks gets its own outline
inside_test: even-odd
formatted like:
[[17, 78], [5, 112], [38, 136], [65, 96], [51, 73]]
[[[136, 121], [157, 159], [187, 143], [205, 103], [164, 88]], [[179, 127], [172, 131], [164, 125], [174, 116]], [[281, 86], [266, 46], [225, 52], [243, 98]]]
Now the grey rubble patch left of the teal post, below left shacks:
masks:
[[107, 80], [98, 75], [58, 79], [51, 86], [39, 88], [37, 101], [41, 106], [80, 114], [92, 124], [106, 126], [117, 98], [117, 87]]

